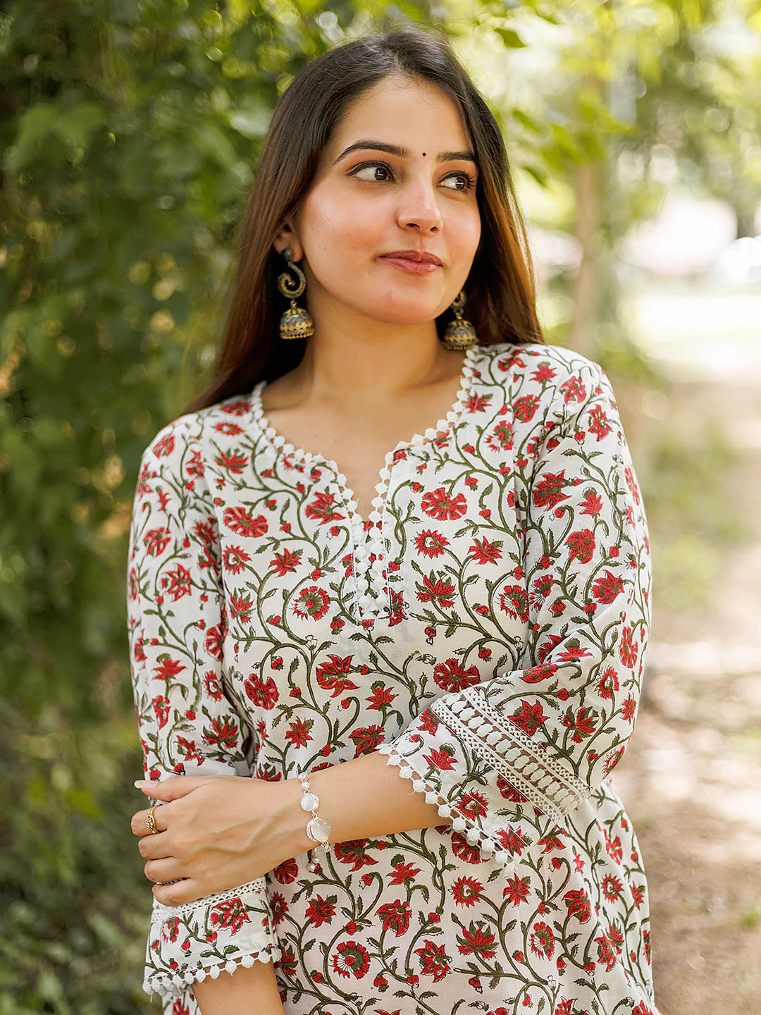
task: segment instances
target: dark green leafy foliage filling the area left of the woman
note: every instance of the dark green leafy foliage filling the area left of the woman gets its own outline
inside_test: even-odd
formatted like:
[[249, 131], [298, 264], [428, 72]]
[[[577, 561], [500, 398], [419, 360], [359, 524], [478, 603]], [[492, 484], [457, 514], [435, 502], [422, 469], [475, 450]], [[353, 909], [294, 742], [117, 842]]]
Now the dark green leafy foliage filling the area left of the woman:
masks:
[[124, 608], [135, 476], [219, 335], [272, 109], [328, 47], [331, 9], [23, 0], [0, 14], [2, 1013], [151, 1008], [151, 895], [129, 831], [143, 806]]

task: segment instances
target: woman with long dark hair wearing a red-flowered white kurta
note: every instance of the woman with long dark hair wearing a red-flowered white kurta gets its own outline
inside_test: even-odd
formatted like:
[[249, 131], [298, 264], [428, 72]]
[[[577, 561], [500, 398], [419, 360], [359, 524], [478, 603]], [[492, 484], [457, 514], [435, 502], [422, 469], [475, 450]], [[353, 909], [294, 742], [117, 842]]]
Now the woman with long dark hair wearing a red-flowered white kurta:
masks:
[[645, 515], [525, 250], [497, 124], [435, 35], [350, 43], [283, 94], [215, 379], [133, 515], [165, 1012], [656, 1012], [608, 781]]

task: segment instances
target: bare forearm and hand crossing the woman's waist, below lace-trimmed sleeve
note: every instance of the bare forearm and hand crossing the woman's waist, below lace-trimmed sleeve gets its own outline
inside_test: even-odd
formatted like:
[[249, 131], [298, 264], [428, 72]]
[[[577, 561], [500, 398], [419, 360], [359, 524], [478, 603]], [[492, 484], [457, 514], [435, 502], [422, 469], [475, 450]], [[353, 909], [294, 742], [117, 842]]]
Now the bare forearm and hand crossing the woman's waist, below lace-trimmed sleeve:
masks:
[[[331, 842], [429, 828], [449, 820], [415, 793], [379, 754], [364, 754], [309, 776], [318, 813], [331, 822]], [[271, 783], [232, 775], [183, 775], [136, 782], [162, 801], [148, 832], [148, 811], [132, 816], [147, 861], [145, 876], [164, 906], [183, 906], [247, 880], [262, 879], [278, 864], [315, 847], [306, 835], [296, 777]], [[368, 792], [369, 791], [369, 792]], [[352, 801], [347, 807], [347, 801]]]

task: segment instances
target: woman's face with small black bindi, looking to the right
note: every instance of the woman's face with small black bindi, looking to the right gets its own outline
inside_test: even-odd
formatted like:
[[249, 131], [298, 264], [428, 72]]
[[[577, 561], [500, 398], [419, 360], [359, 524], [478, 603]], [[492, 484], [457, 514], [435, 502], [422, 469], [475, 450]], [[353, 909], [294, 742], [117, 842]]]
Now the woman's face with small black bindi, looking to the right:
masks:
[[[349, 108], [292, 233], [276, 244], [300, 261], [318, 319], [354, 312], [419, 324], [446, 310], [481, 235], [471, 149], [459, 110], [428, 83], [388, 77]], [[383, 257], [398, 251], [428, 252], [441, 264], [404, 270]]]

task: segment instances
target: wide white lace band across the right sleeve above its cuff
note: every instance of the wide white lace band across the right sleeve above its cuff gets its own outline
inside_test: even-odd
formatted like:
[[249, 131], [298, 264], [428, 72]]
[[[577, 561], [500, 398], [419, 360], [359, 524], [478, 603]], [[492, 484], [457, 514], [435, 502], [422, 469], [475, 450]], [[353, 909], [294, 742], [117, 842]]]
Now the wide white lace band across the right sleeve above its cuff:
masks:
[[431, 705], [452, 732], [536, 807], [561, 822], [592, 790], [557, 758], [540, 751], [514, 723], [492, 708], [477, 685], [467, 687], [449, 706], [443, 698]]

